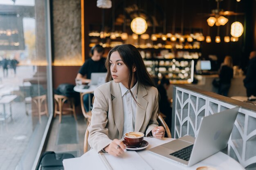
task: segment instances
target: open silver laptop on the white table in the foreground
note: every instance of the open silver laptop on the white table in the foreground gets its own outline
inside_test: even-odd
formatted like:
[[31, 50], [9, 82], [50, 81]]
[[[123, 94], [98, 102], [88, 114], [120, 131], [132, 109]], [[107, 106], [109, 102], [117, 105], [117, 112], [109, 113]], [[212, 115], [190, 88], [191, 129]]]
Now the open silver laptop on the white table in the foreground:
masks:
[[227, 147], [239, 107], [202, 117], [198, 136], [184, 136], [149, 151], [185, 166], [199, 161]]

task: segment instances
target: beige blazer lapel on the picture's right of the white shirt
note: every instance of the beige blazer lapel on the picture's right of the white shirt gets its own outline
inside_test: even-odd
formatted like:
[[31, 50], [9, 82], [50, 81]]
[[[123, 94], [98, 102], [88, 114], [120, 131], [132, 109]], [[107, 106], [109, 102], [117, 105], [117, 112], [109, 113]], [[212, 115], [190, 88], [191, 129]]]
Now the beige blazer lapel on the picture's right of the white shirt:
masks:
[[144, 123], [145, 115], [146, 115], [146, 108], [148, 105], [148, 101], [144, 99], [144, 96], [146, 96], [148, 93], [146, 91], [146, 88], [144, 88], [141, 84], [138, 86], [137, 91], [137, 108], [136, 108], [136, 118], [135, 118], [135, 127], [134, 130], [136, 132], [139, 132], [141, 126]]

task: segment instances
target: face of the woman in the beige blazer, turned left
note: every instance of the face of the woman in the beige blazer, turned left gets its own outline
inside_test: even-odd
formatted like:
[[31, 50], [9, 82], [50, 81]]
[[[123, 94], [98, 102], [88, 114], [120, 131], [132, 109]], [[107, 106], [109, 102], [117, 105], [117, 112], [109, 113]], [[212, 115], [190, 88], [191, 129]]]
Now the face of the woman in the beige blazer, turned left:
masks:
[[129, 69], [124, 64], [121, 56], [117, 51], [114, 51], [110, 55], [110, 71], [114, 82], [122, 83], [126, 88], [128, 88], [129, 81]]

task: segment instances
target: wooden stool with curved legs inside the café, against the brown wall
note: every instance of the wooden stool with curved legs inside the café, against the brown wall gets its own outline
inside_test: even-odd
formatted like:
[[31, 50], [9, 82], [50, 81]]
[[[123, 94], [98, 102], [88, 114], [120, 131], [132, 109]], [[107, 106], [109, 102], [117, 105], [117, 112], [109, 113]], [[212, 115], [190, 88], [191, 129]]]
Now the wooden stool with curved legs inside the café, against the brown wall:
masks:
[[[63, 107], [65, 102], [69, 102], [69, 107]], [[56, 117], [57, 114], [59, 114], [59, 123], [61, 123], [61, 115], [63, 114], [69, 114], [73, 112], [74, 118], [76, 119], [76, 110], [75, 110], [75, 104], [74, 104], [74, 98], [73, 97], [66, 97], [63, 95], [54, 95], [54, 117]]]

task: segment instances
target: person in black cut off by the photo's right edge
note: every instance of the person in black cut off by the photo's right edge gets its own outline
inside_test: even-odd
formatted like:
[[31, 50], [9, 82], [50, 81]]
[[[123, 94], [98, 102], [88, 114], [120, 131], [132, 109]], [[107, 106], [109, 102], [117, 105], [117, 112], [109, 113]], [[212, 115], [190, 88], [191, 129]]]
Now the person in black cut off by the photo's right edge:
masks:
[[244, 79], [247, 97], [256, 96], [256, 51], [252, 51], [249, 56], [249, 66]]

